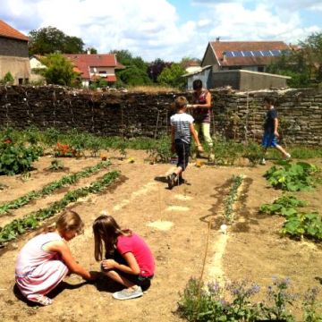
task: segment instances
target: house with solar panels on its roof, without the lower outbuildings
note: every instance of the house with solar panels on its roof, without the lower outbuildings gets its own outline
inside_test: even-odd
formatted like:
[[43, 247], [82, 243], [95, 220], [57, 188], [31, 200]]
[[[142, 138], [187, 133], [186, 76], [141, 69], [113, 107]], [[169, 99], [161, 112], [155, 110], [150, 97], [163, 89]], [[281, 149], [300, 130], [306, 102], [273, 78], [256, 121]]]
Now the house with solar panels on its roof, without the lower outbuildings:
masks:
[[212, 65], [213, 72], [247, 70], [265, 72], [284, 51], [292, 50], [283, 41], [210, 41], [201, 66]]

